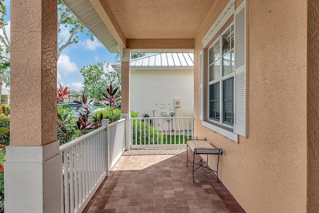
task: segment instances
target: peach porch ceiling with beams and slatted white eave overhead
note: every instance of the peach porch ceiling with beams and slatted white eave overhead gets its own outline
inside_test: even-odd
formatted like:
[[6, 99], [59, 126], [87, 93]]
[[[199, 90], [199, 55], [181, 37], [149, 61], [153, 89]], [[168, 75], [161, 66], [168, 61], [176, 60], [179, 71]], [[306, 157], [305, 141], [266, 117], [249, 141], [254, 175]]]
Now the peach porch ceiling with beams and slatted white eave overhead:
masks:
[[216, 0], [63, 0], [109, 49], [189, 52]]

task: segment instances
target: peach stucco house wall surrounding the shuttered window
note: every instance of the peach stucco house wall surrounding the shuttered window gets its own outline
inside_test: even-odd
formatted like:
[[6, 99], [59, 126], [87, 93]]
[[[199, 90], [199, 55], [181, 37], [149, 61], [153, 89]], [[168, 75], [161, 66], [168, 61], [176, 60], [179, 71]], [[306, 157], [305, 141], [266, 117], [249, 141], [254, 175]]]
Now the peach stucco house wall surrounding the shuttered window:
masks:
[[[195, 39], [195, 134], [223, 149], [219, 177], [247, 213], [303, 213], [307, 204], [307, 0], [246, 0], [246, 8], [248, 138], [239, 136], [237, 144], [199, 120], [201, 39], [218, 12], [208, 16]], [[215, 9], [221, 11], [223, 6]]]

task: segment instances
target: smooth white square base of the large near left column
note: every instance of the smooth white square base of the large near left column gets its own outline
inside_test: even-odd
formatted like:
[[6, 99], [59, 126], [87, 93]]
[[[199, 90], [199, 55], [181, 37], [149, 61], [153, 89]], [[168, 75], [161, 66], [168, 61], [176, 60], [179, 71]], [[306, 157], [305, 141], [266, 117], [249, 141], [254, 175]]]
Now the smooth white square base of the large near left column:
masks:
[[61, 212], [61, 165], [59, 141], [45, 146], [7, 146], [5, 213]]

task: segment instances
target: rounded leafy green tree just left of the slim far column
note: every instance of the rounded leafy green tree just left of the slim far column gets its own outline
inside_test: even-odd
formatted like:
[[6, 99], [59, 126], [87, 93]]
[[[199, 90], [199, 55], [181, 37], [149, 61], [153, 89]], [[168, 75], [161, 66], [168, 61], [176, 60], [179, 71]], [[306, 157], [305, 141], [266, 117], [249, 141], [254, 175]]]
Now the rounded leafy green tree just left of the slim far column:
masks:
[[[102, 92], [104, 93], [111, 84], [114, 88], [120, 88], [121, 75], [114, 71], [109, 63], [98, 62], [83, 66], [80, 72], [84, 77], [83, 93], [90, 98], [103, 98]], [[117, 92], [120, 94], [120, 89]]]

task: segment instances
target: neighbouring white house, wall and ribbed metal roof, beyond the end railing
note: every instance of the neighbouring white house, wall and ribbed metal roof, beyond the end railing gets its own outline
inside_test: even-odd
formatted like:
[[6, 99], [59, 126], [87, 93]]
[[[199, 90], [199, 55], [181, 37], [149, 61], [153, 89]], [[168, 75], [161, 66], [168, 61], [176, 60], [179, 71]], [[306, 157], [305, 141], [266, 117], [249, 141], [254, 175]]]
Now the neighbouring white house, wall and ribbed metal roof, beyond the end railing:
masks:
[[[121, 64], [112, 65], [121, 73]], [[193, 53], [158, 53], [131, 60], [131, 110], [139, 117], [194, 116]], [[179, 105], [175, 106], [176, 99]]]

